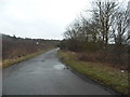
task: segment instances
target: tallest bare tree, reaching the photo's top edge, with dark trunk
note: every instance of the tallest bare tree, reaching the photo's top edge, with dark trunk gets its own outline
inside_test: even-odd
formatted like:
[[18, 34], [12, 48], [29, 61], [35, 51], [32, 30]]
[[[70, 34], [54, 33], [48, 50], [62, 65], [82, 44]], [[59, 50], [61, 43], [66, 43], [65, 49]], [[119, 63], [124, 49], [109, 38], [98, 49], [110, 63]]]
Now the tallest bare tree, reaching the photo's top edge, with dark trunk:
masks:
[[116, 11], [117, 2], [115, 1], [98, 1], [96, 14], [99, 15], [99, 22], [101, 24], [101, 33], [104, 47], [108, 44], [108, 36], [110, 33], [112, 17]]

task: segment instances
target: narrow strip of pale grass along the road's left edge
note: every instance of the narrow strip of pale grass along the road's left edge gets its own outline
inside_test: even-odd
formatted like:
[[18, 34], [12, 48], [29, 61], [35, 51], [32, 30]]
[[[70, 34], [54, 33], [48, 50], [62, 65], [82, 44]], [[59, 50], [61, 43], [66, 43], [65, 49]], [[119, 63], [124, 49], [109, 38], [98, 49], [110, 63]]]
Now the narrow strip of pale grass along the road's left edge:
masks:
[[[51, 50], [51, 48], [49, 48], [49, 50]], [[10, 67], [11, 65], [14, 65], [14, 64], [16, 64], [16, 63], [21, 63], [21, 61], [23, 61], [23, 60], [30, 59], [30, 58], [32, 58], [32, 57], [35, 57], [35, 56], [37, 56], [37, 55], [39, 55], [39, 54], [42, 54], [42, 53], [44, 53], [44, 52], [47, 52], [47, 51], [49, 51], [49, 50], [39, 51], [39, 52], [37, 52], [37, 53], [28, 54], [28, 55], [26, 55], [26, 56], [13, 58], [13, 59], [5, 59], [5, 60], [2, 61], [2, 68], [4, 69], [4, 68], [8, 68], [8, 67]]]

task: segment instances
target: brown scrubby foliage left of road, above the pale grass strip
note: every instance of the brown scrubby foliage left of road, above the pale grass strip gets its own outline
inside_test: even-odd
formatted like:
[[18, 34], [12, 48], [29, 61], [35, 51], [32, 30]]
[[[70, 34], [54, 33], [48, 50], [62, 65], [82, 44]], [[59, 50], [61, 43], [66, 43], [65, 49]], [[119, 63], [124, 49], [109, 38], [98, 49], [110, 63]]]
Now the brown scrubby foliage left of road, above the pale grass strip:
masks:
[[[2, 59], [12, 59], [54, 46], [55, 41], [22, 39], [2, 34]], [[53, 44], [53, 45], [52, 45]]]

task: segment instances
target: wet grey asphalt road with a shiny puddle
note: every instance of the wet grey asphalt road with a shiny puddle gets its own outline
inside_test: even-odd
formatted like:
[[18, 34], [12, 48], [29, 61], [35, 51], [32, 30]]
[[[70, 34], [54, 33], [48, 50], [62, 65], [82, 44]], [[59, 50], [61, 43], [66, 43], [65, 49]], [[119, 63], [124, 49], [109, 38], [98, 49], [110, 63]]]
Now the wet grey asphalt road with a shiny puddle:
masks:
[[57, 57], [57, 48], [3, 70], [3, 95], [112, 95], [83, 80]]

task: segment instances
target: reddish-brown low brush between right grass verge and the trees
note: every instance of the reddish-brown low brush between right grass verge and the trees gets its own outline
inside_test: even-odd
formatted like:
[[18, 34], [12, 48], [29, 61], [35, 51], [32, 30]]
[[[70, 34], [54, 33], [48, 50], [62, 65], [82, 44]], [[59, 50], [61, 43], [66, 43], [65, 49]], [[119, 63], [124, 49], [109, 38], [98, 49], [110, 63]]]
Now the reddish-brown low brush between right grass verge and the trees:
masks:
[[114, 53], [77, 53], [79, 60], [83, 61], [93, 61], [93, 63], [103, 63], [115, 68], [128, 70], [128, 60], [126, 55], [122, 55], [121, 63], [118, 63], [118, 59]]

